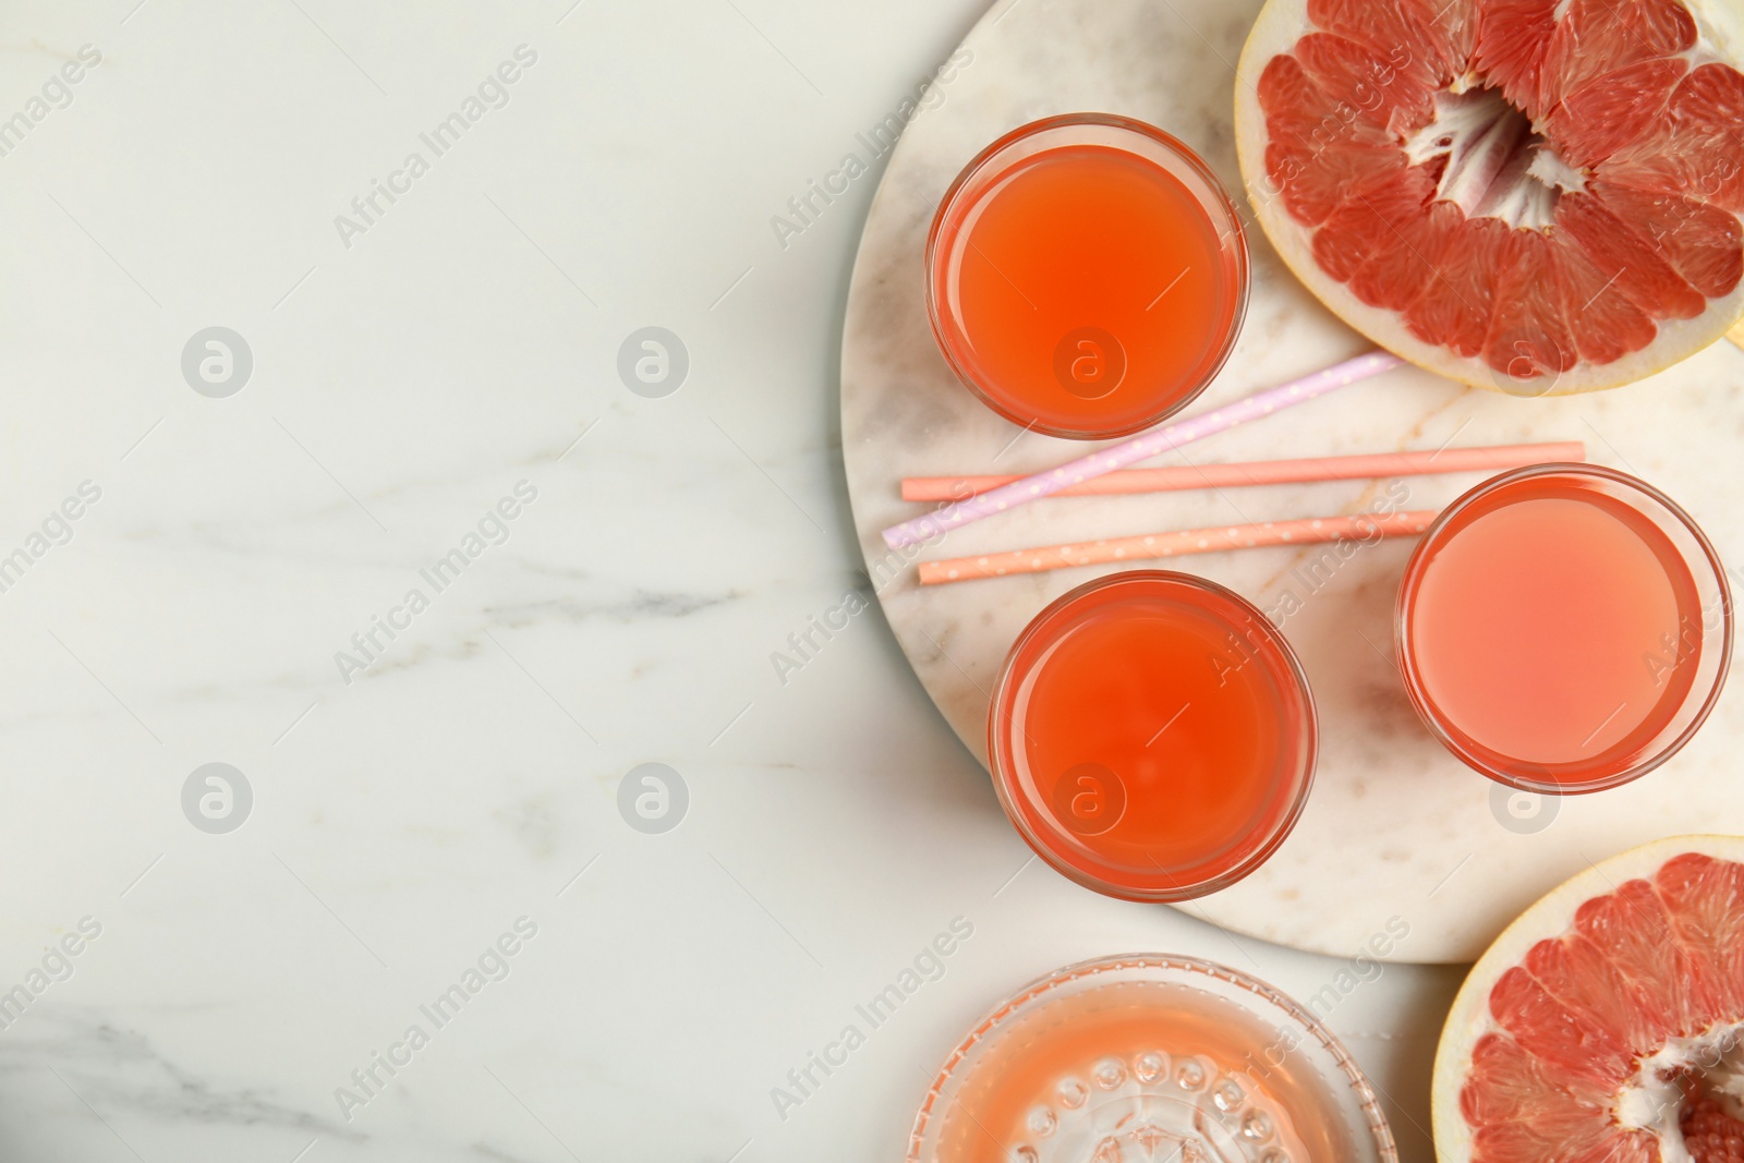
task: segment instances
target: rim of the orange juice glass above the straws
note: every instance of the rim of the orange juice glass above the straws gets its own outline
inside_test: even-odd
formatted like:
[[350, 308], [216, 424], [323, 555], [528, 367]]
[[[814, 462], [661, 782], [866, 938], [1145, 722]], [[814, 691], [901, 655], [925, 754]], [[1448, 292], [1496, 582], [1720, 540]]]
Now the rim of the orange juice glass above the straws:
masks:
[[[1236, 270], [1235, 314], [1230, 317], [1230, 328], [1228, 333], [1224, 335], [1223, 347], [1217, 350], [1217, 356], [1210, 361], [1200, 384], [1191, 392], [1186, 392], [1181, 399], [1170, 403], [1168, 406], [1153, 410], [1142, 420], [1111, 427], [1099, 427], [1099, 429], [1062, 429], [1052, 424], [1043, 424], [1034, 417], [1017, 415], [1005, 405], [1005, 401], [996, 399], [992, 394], [982, 389], [980, 384], [975, 382], [975, 378], [968, 373], [968, 370], [959, 364], [957, 356], [952, 352], [950, 343], [945, 340], [947, 328], [944, 321], [944, 312], [940, 310], [938, 305], [940, 286], [937, 274], [938, 265], [935, 262], [938, 251], [938, 239], [944, 234], [945, 221], [952, 218], [952, 211], [957, 207], [957, 201], [963, 195], [963, 190], [975, 178], [978, 178], [982, 171], [996, 157], [999, 157], [1012, 146], [1027, 141], [1029, 138], [1055, 129], [1071, 129], [1076, 126], [1118, 129], [1141, 136], [1148, 139], [1151, 145], [1158, 145], [1174, 157], [1177, 157], [1184, 166], [1188, 166], [1188, 169], [1193, 171], [1196, 178], [1205, 181], [1214, 197], [1216, 211], [1228, 216], [1230, 234], [1228, 241], [1223, 242], [1223, 249], [1231, 251]], [[1195, 201], [1200, 199], [1195, 197]], [[1207, 207], [1207, 216], [1216, 218], [1216, 214], [1210, 213], [1210, 207]], [[1177, 411], [1191, 405], [1195, 399], [1203, 396], [1205, 391], [1223, 373], [1224, 366], [1230, 363], [1230, 356], [1235, 354], [1236, 340], [1240, 340], [1242, 337], [1242, 324], [1247, 321], [1249, 300], [1252, 298], [1252, 255], [1247, 246], [1247, 228], [1242, 225], [1242, 211], [1235, 204], [1235, 199], [1230, 195], [1228, 187], [1224, 187], [1223, 180], [1217, 178], [1217, 174], [1205, 162], [1205, 159], [1200, 157], [1193, 146], [1181, 141], [1181, 138], [1174, 136], [1165, 129], [1158, 129], [1149, 122], [1142, 122], [1135, 117], [1123, 117], [1120, 113], [1087, 112], [1087, 113], [1057, 113], [1053, 117], [1043, 117], [1027, 122], [1024, 126], [1018, 126], [1017, 129], [1012, 129], [1010, 133], [992, 141], [992, 145], [985, 146], [973, 159], [970, 159], [970, 162], [950, 181], [950, 187], [945, 190], [944, 197], [938, 199], [938, 207], [933, 211], [933, 223], [926, 232], [924, 267], [926, 267], [926, 319], [933, 330], [933, 343], [937, 345], [938, 354], [944, 356], [945, 364], [950, 368], [950, 373], [957, 378], [959, 384], [970, 389], [970, 392], [973, 392], [982, 405], [985, 405], [1001, 418], [1010, 420], [1012, 424], [1017, 424], [1029, 431], [1041, 432], [1045, 436], [1057, 436], [1060, 439], [1120, 439], [1121, 436], [1132, 436], [1135, 432], [1142, 432], [1144, 429], [1167, 420], [1168, 417], [1175, 415]]]

